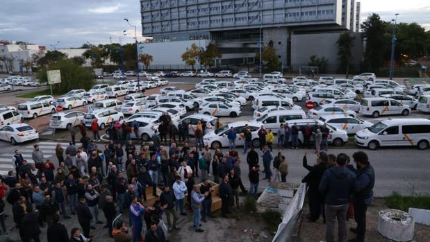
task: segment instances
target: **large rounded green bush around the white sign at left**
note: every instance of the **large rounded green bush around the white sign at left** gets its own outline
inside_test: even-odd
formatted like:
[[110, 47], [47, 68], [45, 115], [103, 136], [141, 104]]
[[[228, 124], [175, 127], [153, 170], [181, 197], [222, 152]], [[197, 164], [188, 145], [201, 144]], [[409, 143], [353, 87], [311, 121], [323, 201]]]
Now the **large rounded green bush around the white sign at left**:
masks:
[[38, 71], [40, 83], [48, 83], [47, 71], [60, 70], [61, 83], [52, 85], [53, 92], [63, 94], [71, 89], [90, 89], [94, 84], [94, 73], [91, 69], [81, 67], [74, 60], [51, 62]]

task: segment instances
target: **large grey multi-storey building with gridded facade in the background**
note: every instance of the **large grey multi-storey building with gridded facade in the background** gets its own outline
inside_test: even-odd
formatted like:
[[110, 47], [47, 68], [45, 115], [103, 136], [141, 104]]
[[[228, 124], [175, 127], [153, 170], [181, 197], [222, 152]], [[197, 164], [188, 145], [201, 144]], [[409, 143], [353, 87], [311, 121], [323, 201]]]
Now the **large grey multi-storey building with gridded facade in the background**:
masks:
[[[356, 0], [140, 0], [142, 35], [152, 37], [140, 51], [154, 56], [154, 69], [184, 69], [181, 55], [187, 47], [204, 48], [213, 42], [222, 53], [215, 66], [249, 66], [257, 65], [255, 56], [263, 42], [275, 49], [281, 70], [295, 70], [310, 57], [301, 55], [301, 39], [333, 46], [325, 39], [308, 38], [355, 29], [352, 1], [355, 4]], [[331, 50], [327, 46], [321, 49]]]

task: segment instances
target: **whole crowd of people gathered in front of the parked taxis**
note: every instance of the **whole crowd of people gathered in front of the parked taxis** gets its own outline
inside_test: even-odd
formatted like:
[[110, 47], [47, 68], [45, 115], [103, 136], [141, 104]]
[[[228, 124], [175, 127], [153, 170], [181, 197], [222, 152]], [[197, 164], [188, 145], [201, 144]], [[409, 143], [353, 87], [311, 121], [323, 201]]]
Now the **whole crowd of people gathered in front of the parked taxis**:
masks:
[[[240, 206], [240, 194], [256, 198], [261, 180], [260, 160], [263, 162], [263, 180], [286, 182], [288, 162], [281, 152], [276, 156], [272, 153], [272, 130], [264, 126], [258, 130], [261, 144], [258, 150], [252, 146], [251, 130], [247, 126], [240, 134], [232, 128], [227, 133], [230, 149], [223, 153], [220, 148], [211, 149], [203, 145], [201, 137], [205, 134], [206, 127], [203, 120], [192, 129], [196, 139], [191, 144], [188, 135], [183, 135], [183, 132], [184, 126], [188, 127], [187, 134], [192, 126], [180, 123], [182, 131], [178, 139], [174, 137], [176, 131], [169, 134], [170, 139], [167, 139], [166, 133], [163, 135], [162, 132], [172, 130], [169, 128], [172, 122], [168, 115], [162, 117], [158, 128], [161, 132], [155, 130], [150, 141], [142, 142], [140, 148], [130, 139], [130, 133], [135, 132], [135, 125], [115, 122], [106, 130], [110, 141], [104, 145], [103, 150], [95, 144], [94, 139], [99, 138], [99, 131], [95, 127], [92, 128], [94, 139], [90, 139], [86, 134], [87, 129], [81, 123], [79, 130], [82, 145], [78, 147], [74, 143], [76, 132], [73, 134], [71, 130], [71, 135], [74, 136], [69, 146], [63, 148], [61, 144], [56, 145], [58, 166], [51, 160], [44, 159], [44, 153], [38, 144], [35, 144], [32, 154], [34, 163], [28, 163], [19, 150], [15, 150], [15, 171], [9, 171], [8, 176], [1, 178], [0, 208], [4, 209], [3, 197], [6, 197], [13, 207], [13, 221], [22, 241], [40, 241], [40, 227], [44, 226], [48, 226], [49, 242], [91, 241], [91, 230], [104, 224], [106, 233], [116, 242], [163, 242], [167, 241], [169, 232], [180, 230], [179, 215], [187, 216], [192, 213], [195, 232], [204, 232], [201, 222], [206, 223], [212, 218], [214, 186], [219, 186], [217, 195], [222, 201], [223, 217], [229, 216], [232, 206]], [[220, 122], [217, 121], [215, 126], [220, 128]], [[315, 127], [317, 126], [305, 126], [304, 131], [313, 135], [325, 132], [324, 127]], [[248, 164], [249, 190], [245, 189], [241, 178], [242, 158], [234, 141], [237, 135], [245, 140], [242, 152], [246, 154]], [[278, 139], [284, 140], [279, 141], [278, 149], [286, 148], [286, 136], [295, 135], [295, 125], [291, 128], [281, 125], [277, 135]], [[293, 144], [292, 148], [296, 148]], [[326, 150], [326, 147], [323, 149]], [[309, 166], [306, 155], [304, 156], [304, 166], [309, 170], [303, 180], [309, 187], [309, 218], [316, 221], [322, 213], [327, 222], [327, 241], [333, 241], [333, 215], [338, 216], [340, 211], [347, 211], [344, 206], [346, 203], [342, 202], [347, 201], [349, 206], [350, 196], [354, 194], [355, 218], [358, 223], [356, 232], [357, 238], [361, 239], [365, 231], [365, 209], [371, 201], [373, 186], [370, 186], [372, 179], [369, 176], [372, 170], [367, 156], [354, 154], [358, 170], [347, 170], [349, 173], [345, 179], [349, 179], [347, 181], [350, 183], [354, 180], [353, 185], [347, 187], [347, 182], [336, 183], [339, 179], [344, 179], [343, 176], [338, 176], [339, 172], [345, 172], [342, 154], [331, 157], [333, 155], [326, 155], [316, 146], [315, 150], [319, 157], [315, 166]], [[336, 167], [330, 168], [336, 163]], [[333, 173], [329, 173], [332, 170]], [[7, 192], [8, 189], [10, 191]], [[341, 189], [345, 190], [347, 196], [339, 194]], [[345, 196], [345, 199], [336, 196]], [[340, 200], [342, 206], [338, 204]], [[99, 216], [101, 212], [106, 223]], [[6, 232], [3, 214], [0, 211], [0, 222], [3, 232]], [[71, 216], [77, 216], [80, 227], [74, 227], [68, 233], [63, 221]], [[26, 226], [28, 224], [34, 226]], [[343, 227], [341, 230], [344, 233]]]

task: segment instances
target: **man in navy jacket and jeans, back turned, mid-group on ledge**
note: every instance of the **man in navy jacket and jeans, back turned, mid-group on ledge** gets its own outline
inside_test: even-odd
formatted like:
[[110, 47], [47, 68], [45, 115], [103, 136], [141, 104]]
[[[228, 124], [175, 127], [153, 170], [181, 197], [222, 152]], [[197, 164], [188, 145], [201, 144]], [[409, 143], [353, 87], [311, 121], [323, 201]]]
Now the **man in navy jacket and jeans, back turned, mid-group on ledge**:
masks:
[[347, 211], [349, 196], [354, 189], [355, 174], [346, 167], [347, 155], [336, 157], [336, 166], [322, 175], [320, 193], [325, 196], [326, 241], [333, 242], [335, 219], [338, 220], [338, 241], [347, 240]]

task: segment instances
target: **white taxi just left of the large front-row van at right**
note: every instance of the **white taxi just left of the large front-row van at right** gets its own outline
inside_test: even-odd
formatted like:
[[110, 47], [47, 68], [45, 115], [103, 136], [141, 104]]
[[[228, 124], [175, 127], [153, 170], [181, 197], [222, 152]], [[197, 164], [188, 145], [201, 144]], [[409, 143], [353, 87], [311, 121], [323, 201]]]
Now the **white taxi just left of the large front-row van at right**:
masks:
[[373, 126], [373, 123], [370, 123], [369, 121], [356, 119], [345, 114], [320, 116], [320, 120], [324, 123], [329, 123], [331, 126], [334, 126], [340, 130], [345, 130], [348, 135], [355, 134], [359, 130]]

